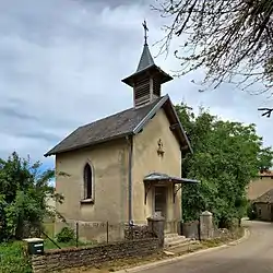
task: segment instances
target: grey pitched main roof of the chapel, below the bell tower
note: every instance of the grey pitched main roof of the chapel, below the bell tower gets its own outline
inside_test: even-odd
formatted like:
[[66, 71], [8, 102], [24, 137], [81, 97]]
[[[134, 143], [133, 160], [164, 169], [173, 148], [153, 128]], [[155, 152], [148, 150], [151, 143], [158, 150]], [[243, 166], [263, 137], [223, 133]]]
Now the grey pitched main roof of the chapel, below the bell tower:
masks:
[[178, 124], [176, 133], [180, 142], [183, 142], [192, 152], [189, 140], [180, 124], [169, 96], [166, 95], [146, 106], [130, 108], [86, 126], [79, 127], [54, 149], [47, 152], [45, 156], [95, 145], [128, 134], [136, 134], [164, 105], [168, 108], [168, 117], [173, 119], [173, 123], [175, 120], [175, 123]]

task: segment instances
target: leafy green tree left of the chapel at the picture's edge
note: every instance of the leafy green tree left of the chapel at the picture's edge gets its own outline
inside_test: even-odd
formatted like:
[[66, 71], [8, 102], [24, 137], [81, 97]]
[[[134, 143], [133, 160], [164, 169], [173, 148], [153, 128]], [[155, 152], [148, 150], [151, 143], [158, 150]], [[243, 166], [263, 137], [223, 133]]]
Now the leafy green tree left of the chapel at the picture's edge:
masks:
[[31, 164], [15, 152], [0, 159], [0, 240], [22, 239], [26, 223], [41, 228], [45, 216], [61, 216], [46, 202], [49, 197], [63, 200], [49, 183], [55, 171], [40, 171], [40, 167], [39, 162]]

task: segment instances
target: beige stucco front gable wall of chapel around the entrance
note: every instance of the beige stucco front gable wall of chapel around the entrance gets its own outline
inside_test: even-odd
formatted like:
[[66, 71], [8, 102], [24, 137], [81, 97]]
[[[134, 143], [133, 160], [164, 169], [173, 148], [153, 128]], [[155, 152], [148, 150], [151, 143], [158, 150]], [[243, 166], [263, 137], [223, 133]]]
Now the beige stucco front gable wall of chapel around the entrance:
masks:
[[[163, 142], [164, 156], [158, 156], [158, 140]], [[181, 156], [180, 146], [169, 130], [169, 121], [165, 111], [161, 109], [144, 127], [143, 131], [133, 138], [133, 219], [135, 223], [145, 222], [153, 212], [153, 190], [150, 190], [147, 203], [144, 204], [144, 176], [150, 173], [164, 173], [180, 177]], [[173, 187], [168, 187], [168, 219], [179, 218], [181, 214], [181, 190], [173, 203]]]

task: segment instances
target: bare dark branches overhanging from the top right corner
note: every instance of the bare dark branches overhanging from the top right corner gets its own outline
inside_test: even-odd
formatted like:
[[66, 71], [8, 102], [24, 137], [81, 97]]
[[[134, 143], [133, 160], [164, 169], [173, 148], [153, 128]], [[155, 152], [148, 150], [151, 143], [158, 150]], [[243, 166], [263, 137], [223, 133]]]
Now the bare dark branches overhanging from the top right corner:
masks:
[[[273, 0], [162, 0], [153, 7], [171, 23], [164, 28], [162, 51], [174, 37], [183, 39], [175, 56], [179, 75], [204, 68], [204, 82], [234, 82], [258, 93], [273, 87]], [[257, 92], [254, 92], [257, 93]]]

